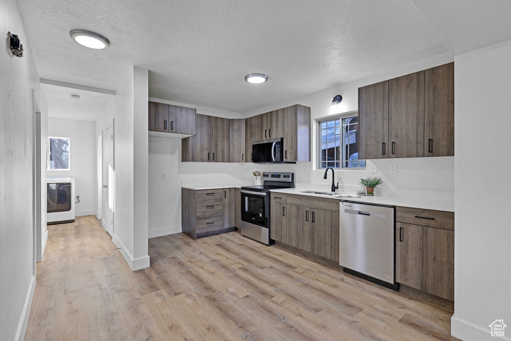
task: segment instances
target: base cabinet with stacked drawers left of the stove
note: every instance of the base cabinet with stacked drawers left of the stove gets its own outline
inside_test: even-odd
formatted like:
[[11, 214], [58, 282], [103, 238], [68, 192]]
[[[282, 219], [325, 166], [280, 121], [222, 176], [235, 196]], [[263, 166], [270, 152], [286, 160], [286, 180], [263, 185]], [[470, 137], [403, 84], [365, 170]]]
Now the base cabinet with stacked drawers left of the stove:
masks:
[[236, 229], [236, 190], [181, 189], [181, 231], [192, 239]]

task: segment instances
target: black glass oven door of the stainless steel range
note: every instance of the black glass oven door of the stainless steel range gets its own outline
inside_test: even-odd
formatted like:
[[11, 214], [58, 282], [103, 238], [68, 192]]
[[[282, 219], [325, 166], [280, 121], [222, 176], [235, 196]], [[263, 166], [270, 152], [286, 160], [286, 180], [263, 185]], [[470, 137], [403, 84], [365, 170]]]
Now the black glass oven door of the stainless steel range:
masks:
[[270, 227], [270, 198], [266, 192], [241, 190], [241, 220]]

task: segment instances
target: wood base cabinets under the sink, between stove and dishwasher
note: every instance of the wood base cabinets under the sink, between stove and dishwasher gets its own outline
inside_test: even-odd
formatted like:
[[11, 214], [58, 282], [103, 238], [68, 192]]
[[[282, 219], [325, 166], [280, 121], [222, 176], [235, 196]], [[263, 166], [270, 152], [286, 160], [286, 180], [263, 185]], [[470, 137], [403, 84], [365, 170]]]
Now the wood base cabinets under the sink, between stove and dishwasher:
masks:
[[270, 204], [271, 239], [339, 261], [339, 200], [271, 193]]

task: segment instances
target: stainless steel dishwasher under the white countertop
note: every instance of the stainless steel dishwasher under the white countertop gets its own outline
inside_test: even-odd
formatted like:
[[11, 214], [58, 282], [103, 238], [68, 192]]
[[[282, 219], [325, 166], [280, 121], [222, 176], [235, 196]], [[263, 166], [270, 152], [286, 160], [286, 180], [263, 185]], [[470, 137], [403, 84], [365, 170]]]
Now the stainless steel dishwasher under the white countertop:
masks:
[[340, 202], [339, 265], [344, 271], [397, 290], [394, 208]]

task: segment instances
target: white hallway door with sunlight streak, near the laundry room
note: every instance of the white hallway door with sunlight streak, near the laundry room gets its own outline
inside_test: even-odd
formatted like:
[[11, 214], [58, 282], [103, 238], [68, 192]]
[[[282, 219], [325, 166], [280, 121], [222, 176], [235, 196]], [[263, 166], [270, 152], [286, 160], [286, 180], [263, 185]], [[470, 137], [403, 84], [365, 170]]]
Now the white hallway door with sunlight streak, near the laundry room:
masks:
[[101, 224], [106, 232], [113, 234], [113, 200], [114, 200], [113, 169], [113, 125], [103, 131], [103, 212]]

